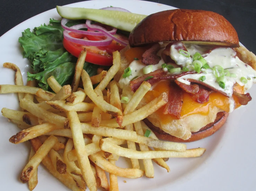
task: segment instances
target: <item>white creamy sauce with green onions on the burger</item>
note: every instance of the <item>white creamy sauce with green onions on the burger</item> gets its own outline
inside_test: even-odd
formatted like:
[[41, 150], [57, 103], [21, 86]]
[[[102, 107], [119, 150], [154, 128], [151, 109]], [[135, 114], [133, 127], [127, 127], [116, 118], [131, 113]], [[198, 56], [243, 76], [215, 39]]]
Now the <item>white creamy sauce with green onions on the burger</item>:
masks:
[[[160, 46], [162, 47], [161, 50], [159, 50], [159, 52], [157, 53], [158, 56], [161, 57], [161, 52], [165, 49], [165, 46], [168, 44], [169, 42], [163, 42], [163, 43], [159, 43]], [[222, 91], [224, 93], [226, 93], [230, 98], [229, 98], [229, 112], [232, 112], [235, 108], [235, 101], [232, 98], [232, 94], [233, 94], [233, 85], [235, 83], [238, 83], [240, 86], [244, 86], [244, 90], [247, 90], [249, 88], [251, 88], [251, 86], [253, 85], [253, 83], [256, 83], [256, 71], [251, 68], [248, 64], [245, 64], [244, 62], [242, 62], [238, 57], [236, 57], [236, 52], [232, 49], [232, 48], [215, 48], [213, 50], [211, 50], [211, 47], [206, 47], [206, 46], [198, 46], [198, 45], [193, 45], [193, 44], [185, 44], [188, 52], [191, 54], [191, 57], [187, 58], [185, 56], [183, 56], [182, 54], [179, 53], [179, 51], [176, 49], [176, 45], [172, 45], [170, 47], [170, 57], [171, 59], [173, 59], [176, 64], [172, 64], [172, 63], [167, 63], [167, 64], [172, 64], [175, 68], [178, 67], [177, 64], [181, 67], [187, 67], [189, 70], [194, 70], [193, 67], [193, 55], [196, 52], [199, 52], [202, 57], [204, 57], [204, 59], [206, 60], [206, 62], [209, 64], [209, 66], [211, 68], [213, 68], [216, 65], [220, 65], [221, 67], [223, 67], [224, 70], [228, 70], [230, 73], [236, 74], [236, 77], [232, 78], [232, 77], [227, 77], [225, 76], [225, 88], [222, 89], [219, 86], [219, 83], [216, 81], [216, 77], [213, 74], [213, 70], [212, 69], [201, 69], [202, 73], [195, 73], [195, 74], [187, 74], [185, 76], [182, 76], [180, 78], [178, 78], [177, 80], [185, 83], [185, 84], [190, 84], [190, 82], [188, 81], [188, 79], [194, 79], [194, 80], [199, 80], [200, 77], [205, 76], [205, 80], [203, 81], [204, 83], [208, 84], [209, 86]], [[211, 50], [210, 53], [208, 50]], [[208, 52], [208, 53], [205, 53]], [[162, 68], [161, 65], [165, 63], [164, 60], [160, 60], [158, 64], [153, 65], [153, 70], [155, 71], [157, 69]], [[119, 84], [120, 84], [120, 88], [123, 89], [123, 93], [122, 96], [126, 96], [129, 99], [131, 99], [133, 92], [131, 92], [130, 89], [130, 81], [134, 78], [134, 77], [141, 77], [144, 75], [143, 73], [143, 68], [146, 65], [141, 63], [140, 60], [134, 60], [133, 62], [131, 62], [131, 64], [129, 65], [129, 67], [132, 70], [132, 74], [129, 77], [123, 78], [121, 77]], [[167, 72], [167, 68], [164, 68], [163, 70], [165, 70]], [[245, 77], [247, 78], [247, 83], [244, 84], [241, 82], [241, 77]], [[151, 90], [153, 89], [153, 87], [155, 87], [156, 84], [154, 84], [151, 87]]]

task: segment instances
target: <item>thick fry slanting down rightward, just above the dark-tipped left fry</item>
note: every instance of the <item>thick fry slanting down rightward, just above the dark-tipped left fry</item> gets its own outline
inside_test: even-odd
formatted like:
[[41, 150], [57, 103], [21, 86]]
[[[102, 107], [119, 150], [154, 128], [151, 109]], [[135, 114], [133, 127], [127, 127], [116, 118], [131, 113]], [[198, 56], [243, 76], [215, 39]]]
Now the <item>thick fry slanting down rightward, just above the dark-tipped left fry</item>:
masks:
[[37, 104], [33, 103], [32, 101], [22, 99], [20, 101], [20, 107], [27, 110], [30, 113], [33, 113], [33, 115], [45, 121], [54, 123], [60, 127], [64, 127], [64, 128], [68, 127], [69, 120], [67, 118], [51, 113], [49, 111], [46, 111], [38, 107]]

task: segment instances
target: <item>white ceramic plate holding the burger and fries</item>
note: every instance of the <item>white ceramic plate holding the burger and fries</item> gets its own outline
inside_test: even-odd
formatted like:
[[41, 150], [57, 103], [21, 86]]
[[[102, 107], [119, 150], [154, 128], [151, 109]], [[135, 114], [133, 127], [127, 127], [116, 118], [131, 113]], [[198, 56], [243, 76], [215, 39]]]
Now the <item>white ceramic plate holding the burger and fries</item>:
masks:
[[[134, 13], [151, 14], [173, 7], [146, 1], [86, 1], [70, 4], [70, 7], [103, 8], [107, 6], [122, 7]], [[48, 23], [50, 18], [59, 19], [56, 9], [46, 11], [30, 18], [14, 27], [0, 37], [0, 63], [12, 62], [20, 68], [24, 82], [30, 63], [22, 57], [18, 38], [24, 29]], [[160, 22], [160, 21], [159, 21]], [[14, 71], [0, 66], [0, 84], [14, 84]], [[183, 191], [183, 190], [256, 190], [256, 152], [255, 146], [255, 107], [256, 86], [250, 89], [253, 100], [228, 118], [226, 124], [214, 135], [206, 139], [188, 143], [188, 148], [204, 147], [206, 152], [200, 158], [169, 159], [167, 162], [171, 171], [166, 172], [155, 165], [155, 178], [124, 179], [118, 178], [119, 189]], [[0, 108], [18, 109], [16, 94], [1, 94]], [[0, 117], [0, 190], [27, 191], [27, 184], [19, 181], [19, 175], [28, 161], [29, 143], [12, 144], [9, 138], [19, 129], [4, 117]], [[121, 167], [131, 167], [129, 159], [117, 162]], [[143, 165], [141, 165], [143, 167]], [[126, 180], [127, 183], [124, 183]], [[44, 167], [39, 166], [38, 185], [36, 191], [69, 190]]]

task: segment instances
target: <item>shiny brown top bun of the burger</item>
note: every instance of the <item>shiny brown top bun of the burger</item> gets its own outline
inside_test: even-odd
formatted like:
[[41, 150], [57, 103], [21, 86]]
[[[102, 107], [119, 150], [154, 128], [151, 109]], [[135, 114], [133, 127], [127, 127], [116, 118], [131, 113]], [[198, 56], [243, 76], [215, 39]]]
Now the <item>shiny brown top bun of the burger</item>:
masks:
[[131, 47], [163, 41], [239, 47], [237, 32], [230, 22], [218, 13], [203, 10], [174, 9], [151, 14], [129, 36]]

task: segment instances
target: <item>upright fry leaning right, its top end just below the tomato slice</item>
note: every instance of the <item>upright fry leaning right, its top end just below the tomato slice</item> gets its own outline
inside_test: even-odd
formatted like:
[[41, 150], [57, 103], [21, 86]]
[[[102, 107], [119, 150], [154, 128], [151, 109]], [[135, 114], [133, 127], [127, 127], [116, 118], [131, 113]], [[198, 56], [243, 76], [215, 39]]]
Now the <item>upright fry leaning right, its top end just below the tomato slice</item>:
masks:
[[[118, 51], [113, 52], [113, 66], [107, 71], [107, 75], [101, 80], [99, 85], [95, 89], [103, 91], [111, 79], [115, 76], [118, 70], [121, 68], [121, 56]], [[83, 82], [84, 84], [84, 82]]]

